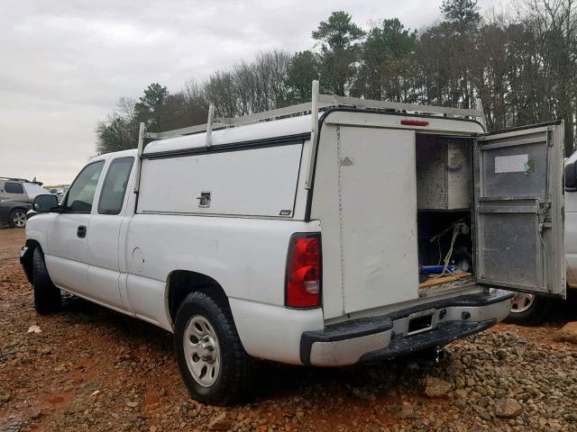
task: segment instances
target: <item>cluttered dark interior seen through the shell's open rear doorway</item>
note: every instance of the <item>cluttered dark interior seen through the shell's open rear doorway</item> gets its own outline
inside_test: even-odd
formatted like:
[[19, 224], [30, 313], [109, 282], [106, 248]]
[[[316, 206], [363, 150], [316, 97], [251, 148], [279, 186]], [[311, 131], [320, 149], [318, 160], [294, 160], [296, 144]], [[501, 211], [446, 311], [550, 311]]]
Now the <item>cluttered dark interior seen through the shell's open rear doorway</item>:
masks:
[[417, 134], [419, 295], [473, 282], [472, 139]]

